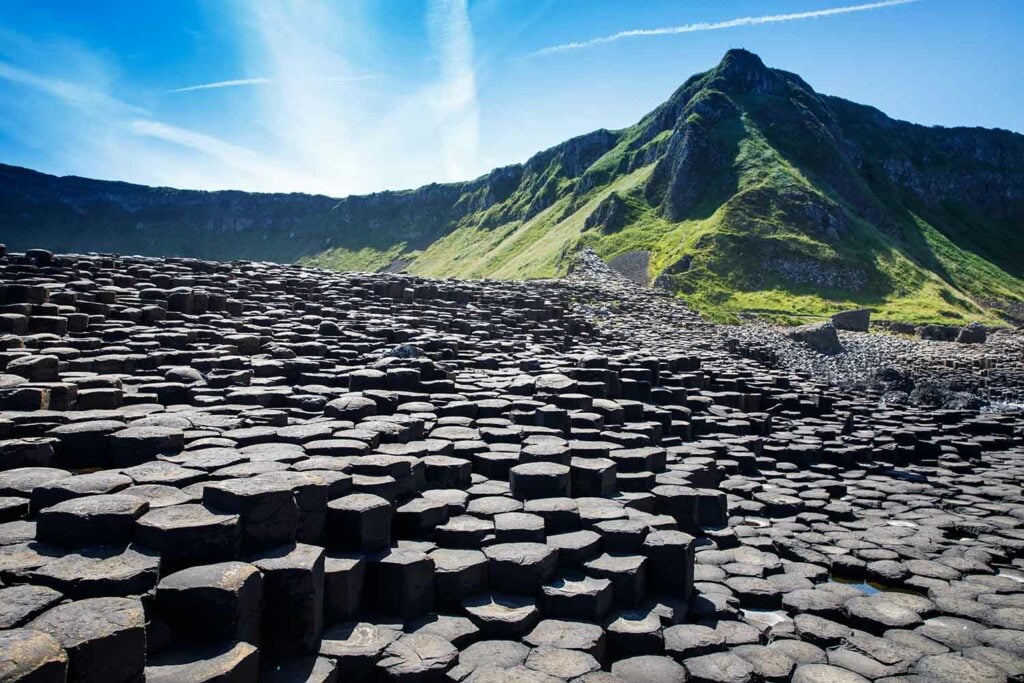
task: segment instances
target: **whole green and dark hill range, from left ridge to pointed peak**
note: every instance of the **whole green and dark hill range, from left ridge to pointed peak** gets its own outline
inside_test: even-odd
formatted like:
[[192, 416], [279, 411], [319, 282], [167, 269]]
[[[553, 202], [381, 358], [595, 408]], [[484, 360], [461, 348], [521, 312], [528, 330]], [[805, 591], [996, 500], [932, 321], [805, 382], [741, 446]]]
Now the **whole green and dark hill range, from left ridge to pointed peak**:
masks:
[[743, 50], [630, 128], [468, 182], [332, 200], [0, 178], [13, 248], [515, 279], [590, 247], [719, 318], [1024, 317], [1024, 136], [895, 121]]

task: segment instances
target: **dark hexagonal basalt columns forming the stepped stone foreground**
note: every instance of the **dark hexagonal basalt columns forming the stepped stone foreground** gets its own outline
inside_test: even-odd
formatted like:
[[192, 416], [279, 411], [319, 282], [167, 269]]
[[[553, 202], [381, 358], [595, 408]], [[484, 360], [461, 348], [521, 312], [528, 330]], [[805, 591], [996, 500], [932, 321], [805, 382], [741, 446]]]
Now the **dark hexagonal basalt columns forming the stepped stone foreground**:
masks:
[[[1021, 415], [752, 334], [614, 280], [0, 249], [0, 681], [1024, 678]], [[1004, 381], [999, 337], [938, 365]]]

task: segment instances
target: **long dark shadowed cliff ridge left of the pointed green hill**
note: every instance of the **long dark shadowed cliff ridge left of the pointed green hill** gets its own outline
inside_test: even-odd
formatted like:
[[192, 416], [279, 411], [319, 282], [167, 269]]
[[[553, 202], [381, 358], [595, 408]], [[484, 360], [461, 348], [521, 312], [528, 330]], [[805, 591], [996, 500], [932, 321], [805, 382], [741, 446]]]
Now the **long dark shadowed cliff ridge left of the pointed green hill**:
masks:
[[422, 249], [468, 216], [490, 212], [486, 222], [500, 225], [537, 215], [561, 196], [560, 178], [582, 175], [616, 139], [600, 130], [469, 182], [344, 199], [148, 187], [0, 164], [0, 236], [12, 249], [282, 262], [332, 248]]

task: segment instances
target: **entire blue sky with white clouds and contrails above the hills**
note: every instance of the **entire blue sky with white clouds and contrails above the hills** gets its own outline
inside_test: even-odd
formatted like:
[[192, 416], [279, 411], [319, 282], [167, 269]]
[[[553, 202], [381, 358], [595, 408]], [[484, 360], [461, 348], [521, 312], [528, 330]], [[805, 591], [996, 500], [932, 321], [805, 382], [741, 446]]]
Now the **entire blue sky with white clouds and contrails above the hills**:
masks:
[[1024, 132], [1022, 36], [1019, 0], [11, 0], [0, 162], [414, 187], [628, 126], [730, 47], [896, 118]]

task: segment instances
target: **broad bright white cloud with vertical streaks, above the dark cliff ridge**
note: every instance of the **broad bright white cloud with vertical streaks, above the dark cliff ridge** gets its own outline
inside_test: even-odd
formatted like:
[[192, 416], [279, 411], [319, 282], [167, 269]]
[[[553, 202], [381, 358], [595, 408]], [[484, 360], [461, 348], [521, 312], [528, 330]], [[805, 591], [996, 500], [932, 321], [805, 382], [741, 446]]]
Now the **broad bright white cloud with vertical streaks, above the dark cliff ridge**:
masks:
[[[377, 77], [395, 49], [358, 2], [237, 5], [245, 72], [259, 88], [253, 116], [263, 146], [329, 195], [398, 189], [478, 174], [479, 111], [473, 32], [465, 0], [431, 0], [423, 72]], [[404, 47], [404, 46], [403, 46]], [[418, 66], [419, 68], [419, 66]], [[370, 75], [366, 75], [369, 70]], [[340, 83], [340, 85], [339, 85]]]

